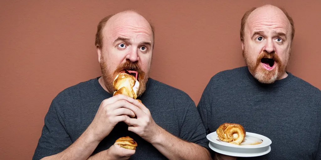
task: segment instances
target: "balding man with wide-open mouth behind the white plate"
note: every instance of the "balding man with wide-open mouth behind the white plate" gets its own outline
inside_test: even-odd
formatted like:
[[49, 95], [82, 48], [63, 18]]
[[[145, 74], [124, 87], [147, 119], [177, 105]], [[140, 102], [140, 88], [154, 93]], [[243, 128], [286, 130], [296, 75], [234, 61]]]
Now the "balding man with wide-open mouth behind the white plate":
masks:
[[241, 124], [270, 138], [271, 152], [252, 158], [215, 153], [214, 159], [321, 159], [321, 92], [286, 71], [292, 18], [273, 5], [252, 8], [241, 20], [240, 36], [247, 66], [214, 75], [197, 108], [207, 133], [220, 124]]

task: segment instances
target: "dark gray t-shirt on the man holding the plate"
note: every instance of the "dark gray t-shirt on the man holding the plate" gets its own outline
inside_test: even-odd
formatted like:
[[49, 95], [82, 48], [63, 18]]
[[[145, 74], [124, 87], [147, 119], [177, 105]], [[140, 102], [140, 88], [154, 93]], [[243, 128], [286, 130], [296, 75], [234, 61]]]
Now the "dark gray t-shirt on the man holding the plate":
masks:
[[291, 73], [261, 84], [241, 67], [213, 76], [197, 108], [207, 133], [237, 123], [272, 140], [267, 155], [239, 159], [320, 160], [320, 101], [319, 89]]

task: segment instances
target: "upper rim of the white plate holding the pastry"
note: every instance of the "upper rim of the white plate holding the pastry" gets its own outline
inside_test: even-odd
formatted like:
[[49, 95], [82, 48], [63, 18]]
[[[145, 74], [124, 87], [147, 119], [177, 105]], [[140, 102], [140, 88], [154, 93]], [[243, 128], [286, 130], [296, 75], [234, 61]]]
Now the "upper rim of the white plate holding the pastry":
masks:
[[[259, 135], [259, 136], [262, 136], [264, 137], [267, 142], [266, 143], [261, 143], [261, 144], [257, 144], [257, 145], [234, 145], [234, 144], [230, 144], [230, 143], [227, 143], [226, 145], [223, 143], [223, 142], [220, 142], [220, 143], [217, 143], [216, 139], [215, 140], [212, 140], [211, 138], [209, 138], [210, 136], [214, 136], [217, 135], [216, 131], [215, 132], [212, 132], [212, 133], [209, 133], [206, 135], [206, 138], [215, 143], [215, 144], [218, 144], [218, 145], [221, 145], [221, 146], [226, 146], [226, 147], [231, 147], [231, 148], [263, 148], [263, 147], [267, 147], [267, 146], [270, 146], [272, 144], [272, 140], [269, 139], [268, 137], [264, 136], [264, 135], [261, 135], [261, 134], [257, 134], [257, 133], [252, 133], [252, 132], [246, 132], [246, 135], [248, 134], [255, 134], [255, 135]], [[258, 138], [258, 137], [257, 137]], [[266, 140], [263, 140], [263, 142], [265, 142]]]

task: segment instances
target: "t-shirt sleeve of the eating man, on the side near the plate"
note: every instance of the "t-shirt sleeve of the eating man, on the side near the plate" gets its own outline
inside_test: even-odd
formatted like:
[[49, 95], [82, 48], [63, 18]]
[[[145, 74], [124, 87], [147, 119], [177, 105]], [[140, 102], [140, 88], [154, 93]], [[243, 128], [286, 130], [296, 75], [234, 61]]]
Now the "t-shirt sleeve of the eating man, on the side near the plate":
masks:
[[186, 109], [186, 114], [181, 116], [182, 125], [179, 132], [179, 138], [209, 149], [209, 141], [206, 139], [205, 128], [194, 101], [191, 100], [190, 104], [186, 106]]

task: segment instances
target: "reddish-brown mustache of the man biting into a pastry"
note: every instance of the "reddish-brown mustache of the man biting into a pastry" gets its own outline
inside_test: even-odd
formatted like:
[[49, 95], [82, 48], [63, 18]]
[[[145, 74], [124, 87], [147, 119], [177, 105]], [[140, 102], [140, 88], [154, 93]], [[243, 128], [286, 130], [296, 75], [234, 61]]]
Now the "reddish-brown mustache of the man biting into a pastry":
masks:
[[131, 62], [130, 60], [126, 60], [126, 62], [118, 65], [118, 67], [115, 69], [114, 74], [117, 75], [119, 72], [124, 71], [124, 70], [137, 71], [139, 80], [143, 79], [145, 76], [145, 72], [139, 66], [138, 62]]

